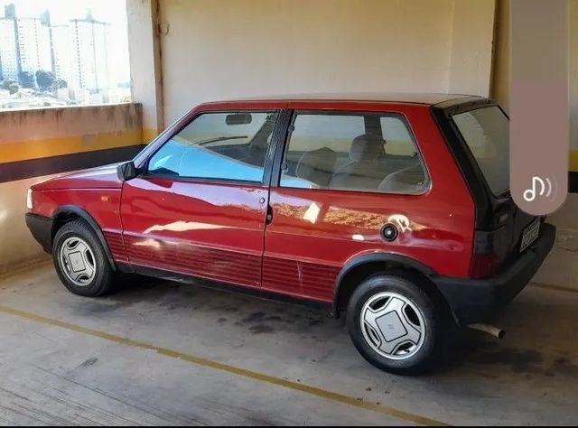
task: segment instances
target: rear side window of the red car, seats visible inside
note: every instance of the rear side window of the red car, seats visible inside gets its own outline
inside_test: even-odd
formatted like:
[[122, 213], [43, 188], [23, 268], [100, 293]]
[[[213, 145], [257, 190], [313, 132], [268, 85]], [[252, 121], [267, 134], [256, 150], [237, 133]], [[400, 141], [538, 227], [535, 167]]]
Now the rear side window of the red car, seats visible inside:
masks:
[[402, 116], [307, 112], [294, 117], [282, 187], [419, 194], [428, 183]]

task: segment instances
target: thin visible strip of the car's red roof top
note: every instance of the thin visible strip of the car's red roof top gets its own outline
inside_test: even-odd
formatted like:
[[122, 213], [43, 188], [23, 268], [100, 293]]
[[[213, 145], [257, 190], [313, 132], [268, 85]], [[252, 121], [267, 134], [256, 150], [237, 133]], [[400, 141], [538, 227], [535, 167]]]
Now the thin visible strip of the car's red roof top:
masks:
[[319, 93], [319, 94], [285, 94], [266, 97], [247, 97], [223, 100], [220, 102], [243, 101], [366, 101], [401, 104], [423, 104], [433, 106], [447, 101], [461, 98], [479, 98], [471, 95], [443, 94], [443, 93], [395, 93], [395, 92], [347, 92], [347, 93]]

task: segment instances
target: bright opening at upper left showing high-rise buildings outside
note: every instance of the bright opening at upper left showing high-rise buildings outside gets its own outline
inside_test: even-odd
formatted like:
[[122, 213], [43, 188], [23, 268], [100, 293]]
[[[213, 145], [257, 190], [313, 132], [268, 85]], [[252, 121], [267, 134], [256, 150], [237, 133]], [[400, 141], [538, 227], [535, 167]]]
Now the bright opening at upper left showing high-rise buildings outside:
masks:
[[2, 5], [0, 110], [130, 101], [125, 2]]

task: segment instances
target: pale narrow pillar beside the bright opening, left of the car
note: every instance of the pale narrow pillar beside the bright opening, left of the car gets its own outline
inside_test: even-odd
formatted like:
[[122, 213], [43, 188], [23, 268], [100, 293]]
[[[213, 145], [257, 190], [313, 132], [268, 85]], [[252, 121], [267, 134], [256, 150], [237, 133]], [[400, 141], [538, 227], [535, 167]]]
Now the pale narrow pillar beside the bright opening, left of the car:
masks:
[[164, 129], [158, 0], [126, 0], [133, 101], [143, 105], [144, 143]]

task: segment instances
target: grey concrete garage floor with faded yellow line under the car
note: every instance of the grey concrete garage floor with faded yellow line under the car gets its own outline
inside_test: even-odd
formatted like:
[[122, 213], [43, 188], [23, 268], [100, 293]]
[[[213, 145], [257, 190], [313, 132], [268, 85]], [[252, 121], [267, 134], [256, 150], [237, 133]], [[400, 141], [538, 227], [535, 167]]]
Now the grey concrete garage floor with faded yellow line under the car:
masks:
[[127, 278], [99, 299], [51, 265], [0, 281], [2, 424], [578, 423], [578, 290], [531, 285], [427, 377], [368, 365], [324, 312]]

